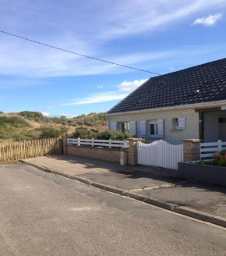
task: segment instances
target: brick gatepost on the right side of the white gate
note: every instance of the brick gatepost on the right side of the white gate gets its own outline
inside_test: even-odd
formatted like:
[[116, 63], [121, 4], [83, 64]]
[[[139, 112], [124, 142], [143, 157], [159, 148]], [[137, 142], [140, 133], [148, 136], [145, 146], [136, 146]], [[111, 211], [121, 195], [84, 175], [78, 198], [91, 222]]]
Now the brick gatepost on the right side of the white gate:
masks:
[[182, 140], [184, 148], [184, 161], [200, 160], [200, 140], [188, 139]]

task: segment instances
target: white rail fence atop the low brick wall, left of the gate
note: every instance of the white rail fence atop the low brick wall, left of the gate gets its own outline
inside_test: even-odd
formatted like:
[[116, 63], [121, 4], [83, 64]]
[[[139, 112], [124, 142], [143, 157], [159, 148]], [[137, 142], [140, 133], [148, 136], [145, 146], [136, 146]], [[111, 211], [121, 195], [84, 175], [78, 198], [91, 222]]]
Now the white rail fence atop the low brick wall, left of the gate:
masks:
[[68, 145], [87, 145], [91, 147], [99, 146], [99, 147], [108, 147], [108, 148], [128, 148], [129, 141], [127, 140], [95, 140], [93, 139], [67, 139]]

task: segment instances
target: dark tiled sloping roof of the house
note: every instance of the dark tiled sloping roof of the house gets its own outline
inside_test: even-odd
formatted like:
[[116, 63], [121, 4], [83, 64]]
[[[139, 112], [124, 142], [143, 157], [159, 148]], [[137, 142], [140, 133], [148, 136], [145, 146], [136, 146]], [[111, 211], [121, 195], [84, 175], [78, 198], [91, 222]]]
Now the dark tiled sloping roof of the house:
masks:
[[226, 59], [151, 77], [107, 114], [226, 100]]

